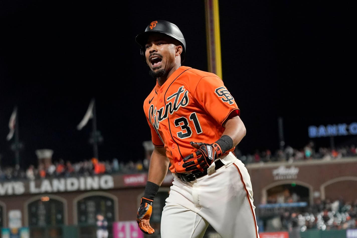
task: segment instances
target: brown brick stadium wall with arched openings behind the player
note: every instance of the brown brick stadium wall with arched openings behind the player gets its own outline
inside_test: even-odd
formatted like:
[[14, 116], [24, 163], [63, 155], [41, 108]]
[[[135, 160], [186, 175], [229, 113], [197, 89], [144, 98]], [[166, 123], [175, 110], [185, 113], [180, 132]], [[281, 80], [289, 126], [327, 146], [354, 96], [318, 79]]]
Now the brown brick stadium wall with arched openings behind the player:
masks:
[[[356, 199], [356, 158], [331, 161], [309, 160], [294, 163], [249, 164], [247, 165], [247, 169], [252, 180], [256, 207], [266, 200], [267, 189], [291, 183], [307, 187], [311, 203], [313, 202], [313, 194], [316, 194], [316, 192], [320, 194], [322, 199], [338, 199], [340, 197], [343, 197], [345, 200]], [[102, 178], [103, 176], [107, 177]], [[87, 189], [88, 187], [83, 185], [84, 187], [79, 187], [77, 190], [73, 190], [73, 187], [66, 187], [66, 191], [62, 192], [48, 192], [50, 189], [48, 184], [52, 184], [53, 182], [51, 179], [48, 179], [47, 186], [43, 185], [43, 180], [37, 180], [35, 184], [32, 184], [32, 192], [29, 181], [22, 181], [22, 184], [17, 184], [17, 186], [22, 186], [22, 190], [15, 188], [16, 184], [14, 185], [12, 182], [1, 182], [0, 205], [3, 208], [2, 219], [5, 220], [3, 224], [4, 226], [8, 224], [6, 211], [20, 209], [22, 212], [22, 224], [27, 225], [28, 213], [26, 204], [40, 199], [44, 195], [50, 199], [54, 198], [65, 203], [65, 225], [77, 224], [75, 202], [81, 197], [92, 195], [109, 196], [115, 200], [114, 213], [116, 220], [135, 220], [140, 198], [144, 192], [147, 174], [102, 175], [99, 176], [100, 179], [104, 181], [100, 189]], [[172, 179], [173, 177], [169, 173], [160, 190], [169, 190]], [[105, 183], [105, 181], [111, 182]], [[12, 184], [12, 187], [10, 184]], [[33, 189], [34, 187], [37, 190]], [[45, 189], [45, 192], [39, 192], [41, 189]], [[71, 189], [72, 191], [69, 191]], [[15, 194], [15, 191], [17, 194]]]

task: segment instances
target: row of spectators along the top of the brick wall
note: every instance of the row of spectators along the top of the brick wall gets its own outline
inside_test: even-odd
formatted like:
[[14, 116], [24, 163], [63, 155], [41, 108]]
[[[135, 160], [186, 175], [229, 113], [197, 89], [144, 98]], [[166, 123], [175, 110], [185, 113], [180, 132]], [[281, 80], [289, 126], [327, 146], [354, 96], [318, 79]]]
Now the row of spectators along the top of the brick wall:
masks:
[[[327, 147], [320, 147], [317, 149], [312, 141], [301, 149], [286, 146], [285, 149], [278, 149], [275, 153], [266, 149], [256, 150], [253, 154], [243, 155], [241, 151], [236, 148], [234, 153], [244, 164], [269, 162], [292, 163], [295, 161], [311, 159], [333, 160], [343, 157], [357, 157], [357, 149], [355, 145], [337, 147], [336, 149]], [[91, 158], [76, 163], [72, 163], [69, 160], [65, 161], [64, 159], [59, 159], [59, 161], [54, 161], [46, 168], [44, 168], [43, 164], [37, 166], [31, 164], [27, 169], [22, 169], [18, 165], [15, 167], [2, 168], [0, 165], [0, 182], [17, 179], [86, 176], [104, 173], [140, 173], [148, 171], [149, 163], [149, 158], [137, 161], [130, 160], [129, 162], [119, 161], [117, 158], [114, 158], [111, 161], [98, 161], [96, 158]]]

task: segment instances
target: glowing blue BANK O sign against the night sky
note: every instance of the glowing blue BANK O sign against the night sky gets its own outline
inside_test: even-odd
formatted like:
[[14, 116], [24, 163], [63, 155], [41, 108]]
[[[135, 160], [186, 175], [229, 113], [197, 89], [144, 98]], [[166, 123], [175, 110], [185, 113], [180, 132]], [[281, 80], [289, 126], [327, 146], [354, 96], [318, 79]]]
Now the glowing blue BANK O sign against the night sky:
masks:
[[320, 125], [318, 127], [311, 125], [308, 127], [310, 138], [316, 137], [334, 137], [337, 135], [357, 135], [357, 122], [351, 124], [341, 123], [334, 125]]

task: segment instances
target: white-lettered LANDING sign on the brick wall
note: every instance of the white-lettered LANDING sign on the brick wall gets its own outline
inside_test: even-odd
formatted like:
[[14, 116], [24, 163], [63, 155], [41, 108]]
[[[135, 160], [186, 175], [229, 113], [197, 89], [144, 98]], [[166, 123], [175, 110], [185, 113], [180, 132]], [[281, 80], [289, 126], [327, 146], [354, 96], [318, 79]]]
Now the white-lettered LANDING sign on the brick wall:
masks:
[[111, 175], [93, 177], [70, 177], [41, 179], [29, 182], [10, 181], [0, 183], [0, 196], [24, 193], [59, 193], [83, 190], [103, 190], [114, 188]]

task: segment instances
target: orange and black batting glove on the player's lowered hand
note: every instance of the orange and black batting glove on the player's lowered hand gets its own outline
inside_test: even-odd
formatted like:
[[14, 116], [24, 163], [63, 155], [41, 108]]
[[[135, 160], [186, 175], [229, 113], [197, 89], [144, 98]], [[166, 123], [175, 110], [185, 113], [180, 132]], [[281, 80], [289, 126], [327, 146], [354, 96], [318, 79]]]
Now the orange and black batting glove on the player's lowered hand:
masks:
[[136, 222], [139, 224], [140, 230], [145, 234], [152, 234], [155, 232], [151, 227], [149, 221], [152, 213], [153, 200], [142, 197], [139, 210], [137, 210]]

